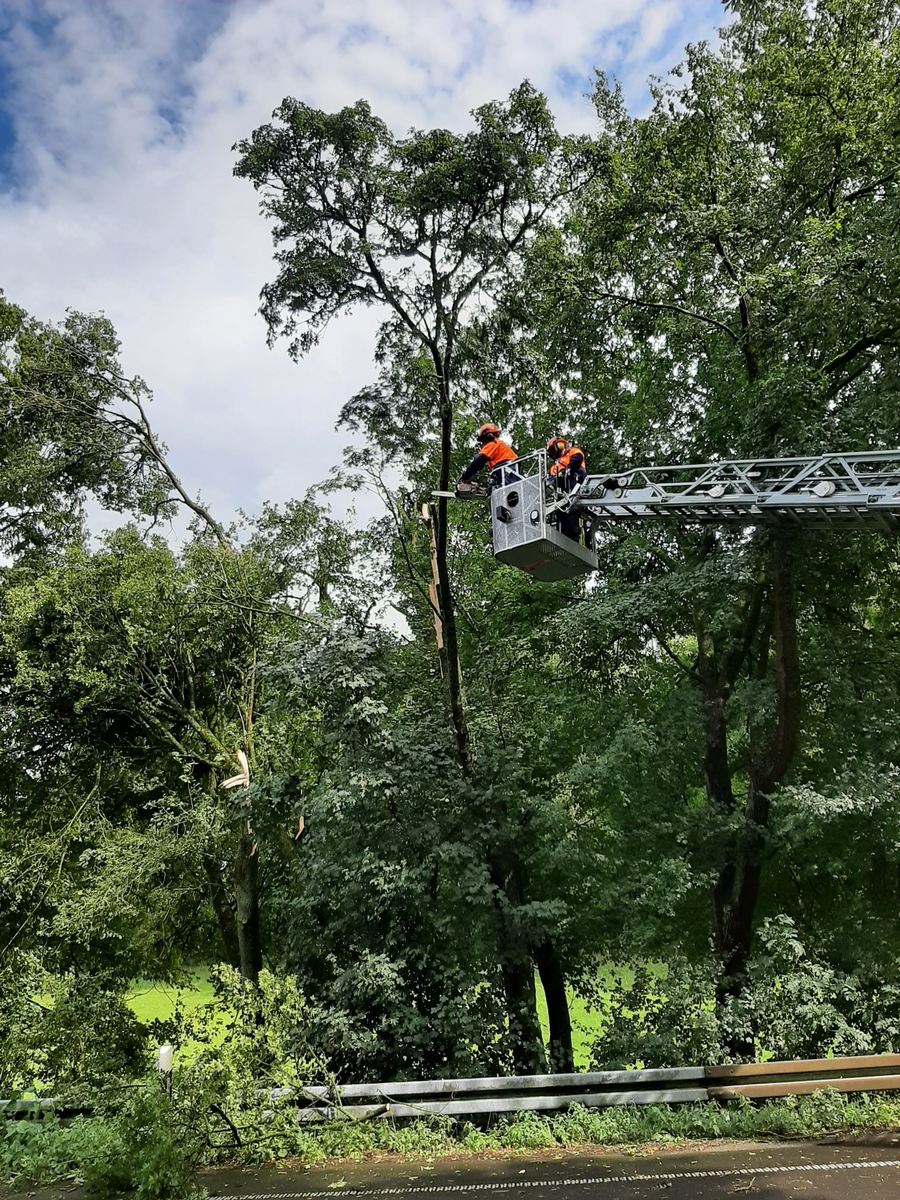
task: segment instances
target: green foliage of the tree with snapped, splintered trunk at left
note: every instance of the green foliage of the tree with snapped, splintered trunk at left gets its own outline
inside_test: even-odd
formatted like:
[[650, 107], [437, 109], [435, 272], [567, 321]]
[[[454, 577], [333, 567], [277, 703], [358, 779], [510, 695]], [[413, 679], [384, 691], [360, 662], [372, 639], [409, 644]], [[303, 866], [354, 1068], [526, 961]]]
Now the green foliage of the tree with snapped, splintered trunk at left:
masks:
[[[298, 626], [286, 598], [298, 578], [324, 611], [365, 590], [341, 583], [349, 552], [336, 534], [304, 576], [302, 539], [329, 535], [311, 503], [281, 522], [266, 510], [256, 532], [240, 551], [198, 536], [175, 553], [120, 529], [11, 577], [0, 803], [16, 821], [0, 833], [0, 956], [7, 936], [25, 948], [50, 940], [66, 971], [80, 946], [122, 983], [187, 958], [238, 961], [253, 845], [265, 842], [270, 863], [290, 857], [300, 814], [296, 797], [254, 810], [253, 788], [221, 784], [238, 749], [256, 785], [280, 758], [299, 768], [306, 740], [302, 715], [266, 721], [257, 662]], [[252, 970], [258, 935], [245, 941]]]

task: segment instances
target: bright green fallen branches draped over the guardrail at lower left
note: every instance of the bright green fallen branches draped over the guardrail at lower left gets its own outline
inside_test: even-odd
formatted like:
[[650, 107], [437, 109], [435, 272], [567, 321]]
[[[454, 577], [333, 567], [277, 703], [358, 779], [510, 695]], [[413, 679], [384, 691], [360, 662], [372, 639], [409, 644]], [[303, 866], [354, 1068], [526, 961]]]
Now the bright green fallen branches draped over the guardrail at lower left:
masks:
[[[67, 1034], [70, 1048], [80, 1038], [70, 1075], [56, 1062], [54, 1028], [38, 1031], [48, 1037], [47, 1044], [28, 1049], [32, 1062], [40, 1060], [48, 1072], [49, 1090], [60, 1096], [68, 1085], [66, 1094], [89, 1104], [92, 1115], [67, 1127], [53, 1118], [6, 1122], [5, 1177], [68, 1177], [100, 1195], [133, 1190], [150, 1200], [186, 1194], [199, 1160], [258, 1163], [320, 1156], [296, 1121], [294, 1097], [311, 1080], [329, 1076], [308, 1049], [314, 1014], [295, 982], [263, 972], [257, 988], [228, 967], [212, 972], [212, 982], [215, 1002], [191, 1013], [176, 1008], [173, 1018], [155, 1022], [155, 1037], [170, 1038], [178, 1046], [170, 1096], [160, 1091], [156, 1079], [146, 1081], [154, 1072], [145, 1039], [138, 1067], [128, 1061], [118, 1030], [102, 1019], [102, 1012], [91, 1014], [97, 1037], [89, 1042], [89, 1030], [82, 1027], [85, 1012], [71, 1002], [60, 1004], [54, 1010], [60, 1038]], [[133, 1028], [128, 1015], [126, 1027]], [[50, 1079], [54, 1064], [56, 1075]], [[131, 1081], [134, 1078], [138, 1082]], [[282, 1097], [270, 1098], [270, 1088], [282, 1088]]]

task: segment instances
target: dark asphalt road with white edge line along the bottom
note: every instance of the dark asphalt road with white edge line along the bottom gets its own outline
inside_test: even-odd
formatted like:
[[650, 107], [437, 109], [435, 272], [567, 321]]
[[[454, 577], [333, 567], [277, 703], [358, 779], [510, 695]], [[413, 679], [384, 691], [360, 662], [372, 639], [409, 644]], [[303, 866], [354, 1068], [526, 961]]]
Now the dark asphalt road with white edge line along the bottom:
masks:
[[900, 1200], [900, 1135], [740, 1144], [688, 1152], [601, 1150], [509, 1158], [397, 1159], [319, 1169], [210, 1172], [210, 1196], [240, 1200]]

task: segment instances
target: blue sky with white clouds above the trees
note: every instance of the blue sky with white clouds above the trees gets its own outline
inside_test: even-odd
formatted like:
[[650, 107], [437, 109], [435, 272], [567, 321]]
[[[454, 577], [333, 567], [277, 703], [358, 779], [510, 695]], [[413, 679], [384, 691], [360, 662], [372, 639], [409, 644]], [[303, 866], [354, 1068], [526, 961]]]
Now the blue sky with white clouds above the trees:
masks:
[[288, 95], [463, 131], [523, 78], [590, 131], [595, 68], [640, 113], [648, 77], [722, 23], [720, 0], [0, 0], [0, 288], [47, 320], [113, 320], [222, 520], [301, 496], [340, 462], [376, 318], [299, 365], [266, 347], [271, 241], [233, 144]]

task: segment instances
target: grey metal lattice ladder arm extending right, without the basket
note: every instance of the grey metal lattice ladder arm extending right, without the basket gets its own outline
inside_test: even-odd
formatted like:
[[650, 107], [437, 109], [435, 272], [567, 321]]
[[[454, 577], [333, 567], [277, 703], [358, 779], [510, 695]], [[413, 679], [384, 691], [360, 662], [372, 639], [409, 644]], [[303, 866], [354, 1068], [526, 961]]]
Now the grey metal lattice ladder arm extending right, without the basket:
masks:
[[746, 458], [588, 475], [572, 510], [592, 521], [900, 528], [900, 450]]

